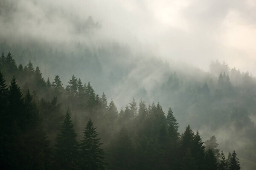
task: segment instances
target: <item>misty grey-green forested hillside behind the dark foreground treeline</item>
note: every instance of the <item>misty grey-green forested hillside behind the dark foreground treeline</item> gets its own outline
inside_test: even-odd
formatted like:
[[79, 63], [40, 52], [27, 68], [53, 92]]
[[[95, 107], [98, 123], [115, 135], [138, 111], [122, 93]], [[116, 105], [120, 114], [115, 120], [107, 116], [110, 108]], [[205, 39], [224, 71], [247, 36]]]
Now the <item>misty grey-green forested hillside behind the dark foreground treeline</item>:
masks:
[[[40, 48], [36, 44], [31, 48], [22, 46], [1, 44], [5, 54], [14, 51], [13, 57], [18, 63], [27, 65], [30, 59], [35, 60], [36, 65], [43, 68], [42, 72], [47, 73], [44, 79], [49, 77], [51, 83], [55, 75], [59, 75], [65, 87], [73, 74], [77, 79], [90, 81], [97, 93], [105, 91], [119, 109], [125, 108], [133, 98], [137, 102], [142, 98], [148, 104], [160, 102], [164, 110], [171, 106], [180, 124], [180, 133], [190, 123], [201, 132], [204, 140], [217, 136], [222, 150], [236, 148], [249, 169], [255, 166], [256, 79], [248, 72], [229, 68], [218, 61], [210, 63], [210, 71], [205, 72], [179, 63], [164, 63], [144, 54], [135, 57], [127, 47], [118, 43], [99, 49], [81, 45], [73, 53], [68, 50], [60, 53], [58, 48], [53, 50], [48, 45]], [[31, 67], [29, 65], [27, 67]], [[11, 79], [12, 74], [6, 71], [7, 82]], [[23, 87], [31, 80], [23, 76], [17, 81]], [[31, 88], [36, 90], [37, 85], [32, 84]], [[37, 93], [48, 101], [56, 96], [41, 89]], [[64, 101], [61, 103], [69, 105]]]

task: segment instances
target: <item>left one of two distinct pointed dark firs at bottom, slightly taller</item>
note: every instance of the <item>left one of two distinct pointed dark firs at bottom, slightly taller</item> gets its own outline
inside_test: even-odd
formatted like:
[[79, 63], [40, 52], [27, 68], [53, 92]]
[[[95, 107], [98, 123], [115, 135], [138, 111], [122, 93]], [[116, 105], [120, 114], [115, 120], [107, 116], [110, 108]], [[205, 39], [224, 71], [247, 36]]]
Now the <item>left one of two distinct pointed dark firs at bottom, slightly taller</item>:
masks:
[[78, 161], [78, 142], [69, 111], [66, 112], [61, 133], [56, 138], [55, 159], [65, 170], [76, 170]]

